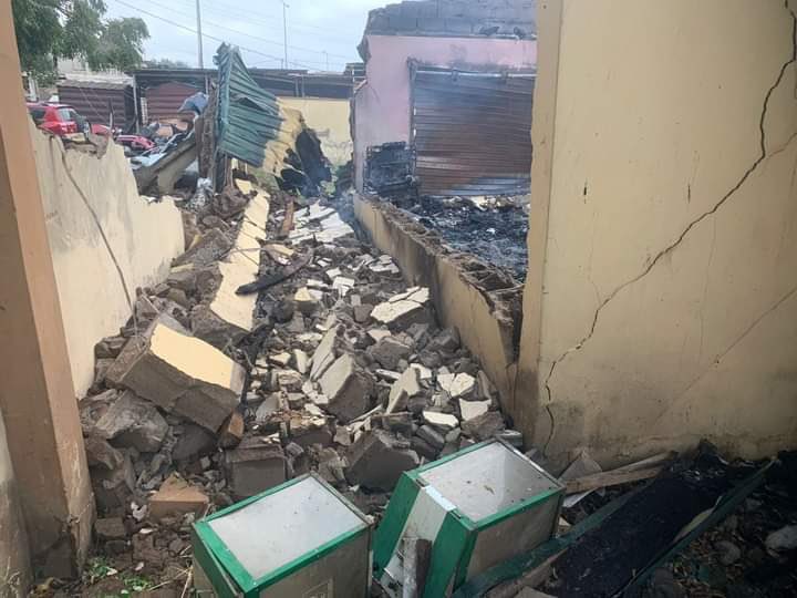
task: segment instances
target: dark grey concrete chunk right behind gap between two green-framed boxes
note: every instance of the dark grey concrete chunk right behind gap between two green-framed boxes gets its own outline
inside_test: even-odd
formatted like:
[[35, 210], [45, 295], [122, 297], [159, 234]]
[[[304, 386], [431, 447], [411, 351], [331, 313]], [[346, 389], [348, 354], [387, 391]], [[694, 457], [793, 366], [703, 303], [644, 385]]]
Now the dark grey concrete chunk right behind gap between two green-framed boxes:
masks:
[[368, 488], [392, 491], [402, 472], [418, 466], [417, 453], [382, 430], [363, 434], [349, 450], [346, 480]]

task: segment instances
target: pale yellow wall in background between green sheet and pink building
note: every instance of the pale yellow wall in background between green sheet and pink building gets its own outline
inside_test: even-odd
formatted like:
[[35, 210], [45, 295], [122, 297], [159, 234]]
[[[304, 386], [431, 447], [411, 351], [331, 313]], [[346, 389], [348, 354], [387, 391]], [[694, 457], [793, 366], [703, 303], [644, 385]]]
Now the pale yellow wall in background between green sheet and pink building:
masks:
[[280, 103], [302, 113], [307, 125], [321, 140], [321, 150], [333, 166], [342, 166], [352, 158], [354, 145], [349, 126], [349, 100], [280, 97]]

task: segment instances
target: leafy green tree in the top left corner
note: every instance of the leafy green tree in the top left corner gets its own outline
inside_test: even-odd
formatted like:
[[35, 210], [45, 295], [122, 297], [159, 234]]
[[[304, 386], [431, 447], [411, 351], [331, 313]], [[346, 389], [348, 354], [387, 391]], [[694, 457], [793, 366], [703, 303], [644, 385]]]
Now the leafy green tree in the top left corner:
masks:
[[138, 18], [104, 20], [102, 0], [12, 0], [22, 70], [50, 84], [59, 58], [85, 60], [93, 70], [141, 65], [146, 23]]

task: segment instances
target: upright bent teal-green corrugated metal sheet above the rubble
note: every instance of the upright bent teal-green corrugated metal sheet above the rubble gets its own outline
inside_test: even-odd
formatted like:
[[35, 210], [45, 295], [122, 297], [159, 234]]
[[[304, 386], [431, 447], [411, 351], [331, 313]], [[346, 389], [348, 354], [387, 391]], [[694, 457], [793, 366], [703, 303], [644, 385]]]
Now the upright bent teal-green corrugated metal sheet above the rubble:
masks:
[[266, 145], [280, 133], [283, 118], [277, 97], [249, 75], [237, 48], [221, 44], [216, 58], [219, 68], [217, 148], [259, 166]]

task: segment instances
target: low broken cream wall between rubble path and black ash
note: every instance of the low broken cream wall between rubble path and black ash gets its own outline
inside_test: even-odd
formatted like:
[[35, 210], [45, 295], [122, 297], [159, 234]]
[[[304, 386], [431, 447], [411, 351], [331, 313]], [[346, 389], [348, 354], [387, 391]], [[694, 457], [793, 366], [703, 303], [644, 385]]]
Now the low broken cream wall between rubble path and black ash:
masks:
[[521, 324], [520, 288], [497, 268], [447, 249], [437, 234], [392, 204], [355, 196], [354, 213], [407, 282], [429, 288], [443, 326], [457, 329], [496, 385], [501, 405], [509, 406]]

